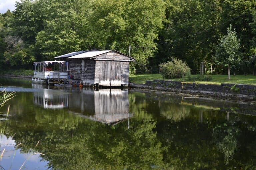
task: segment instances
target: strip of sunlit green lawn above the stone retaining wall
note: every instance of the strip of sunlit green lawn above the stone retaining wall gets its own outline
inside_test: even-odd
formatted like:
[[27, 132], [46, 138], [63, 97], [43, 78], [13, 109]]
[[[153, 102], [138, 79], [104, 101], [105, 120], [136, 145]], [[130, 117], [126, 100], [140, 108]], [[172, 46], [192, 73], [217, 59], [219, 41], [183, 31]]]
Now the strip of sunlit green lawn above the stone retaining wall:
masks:
[[[246, 75], [246, 76], [230, 75], [230, 80], [228, 80], [227, 77], [228, 75], [212, 75], [211, 81], [187, 81], [186, 77], [175, 78], [170, 80], [196, 82], [196, 83], [203, 83], [203, 84], [233, 83], [233, 84], [256, 85], [256, 76], [254, 75]], [[164, 79], [161, 74], [139, 74], [139, 75], [131, 75], [131, 80], [132, 80], [131, 83], [141, 84], [141, 83], [145, 83], [146, 80], [169, 80], [169, 79]]]

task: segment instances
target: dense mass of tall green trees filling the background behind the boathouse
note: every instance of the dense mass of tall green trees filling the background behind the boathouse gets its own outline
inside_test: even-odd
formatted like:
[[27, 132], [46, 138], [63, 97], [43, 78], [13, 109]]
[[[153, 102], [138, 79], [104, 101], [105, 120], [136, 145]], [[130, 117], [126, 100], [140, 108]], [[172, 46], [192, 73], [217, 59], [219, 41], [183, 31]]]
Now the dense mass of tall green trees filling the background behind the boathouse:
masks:
[[[215, 47], [232, 25], [241, 45], [237, 73], [255, 73], [256, 0], [21, 0], [0, 14], [0, 68], [30, 68], [68, 52], [115, 49], [137, 71], [186, 61], [192, 73], [226, 73]], [[247, 68], [247, 69], [244, 69]], [[232, 70], [231, 70], [232, 71]]]

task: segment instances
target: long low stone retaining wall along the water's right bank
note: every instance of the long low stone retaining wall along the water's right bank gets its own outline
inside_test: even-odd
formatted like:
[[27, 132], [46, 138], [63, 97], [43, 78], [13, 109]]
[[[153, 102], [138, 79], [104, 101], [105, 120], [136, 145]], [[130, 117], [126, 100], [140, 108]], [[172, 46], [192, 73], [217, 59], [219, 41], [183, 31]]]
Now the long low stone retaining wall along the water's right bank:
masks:
[[129, 87], [173, 91], [202, 96], [213, 96], [217, 98], [228, 98], [235, 100], [256, 101], [256, 86], [243, 84], [199, 84], [190, 82], [153, 80], [145, 84], [129, 83]]

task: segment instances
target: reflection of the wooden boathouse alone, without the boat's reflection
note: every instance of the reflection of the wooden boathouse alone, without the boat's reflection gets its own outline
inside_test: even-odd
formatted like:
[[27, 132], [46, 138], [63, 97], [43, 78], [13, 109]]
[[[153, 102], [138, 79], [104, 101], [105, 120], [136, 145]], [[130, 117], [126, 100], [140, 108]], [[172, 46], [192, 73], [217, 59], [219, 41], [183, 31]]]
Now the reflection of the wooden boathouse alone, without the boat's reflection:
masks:
[[128, 90], [83, 90], [79, 97], [70, 95], [69, 106], [71, 113], [108, 124], [133, 116], [129, 113]]

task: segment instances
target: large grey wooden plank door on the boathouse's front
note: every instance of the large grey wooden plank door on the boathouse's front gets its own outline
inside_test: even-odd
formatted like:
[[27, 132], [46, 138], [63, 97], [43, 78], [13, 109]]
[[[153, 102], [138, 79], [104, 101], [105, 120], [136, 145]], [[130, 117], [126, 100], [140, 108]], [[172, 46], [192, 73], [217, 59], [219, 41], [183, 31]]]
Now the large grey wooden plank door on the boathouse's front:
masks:
[[123, 74], [123, 62], [101, 61], [101, 76], [99, 85], [121, 86]]

